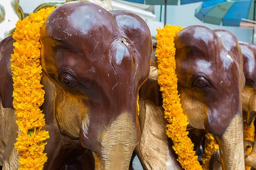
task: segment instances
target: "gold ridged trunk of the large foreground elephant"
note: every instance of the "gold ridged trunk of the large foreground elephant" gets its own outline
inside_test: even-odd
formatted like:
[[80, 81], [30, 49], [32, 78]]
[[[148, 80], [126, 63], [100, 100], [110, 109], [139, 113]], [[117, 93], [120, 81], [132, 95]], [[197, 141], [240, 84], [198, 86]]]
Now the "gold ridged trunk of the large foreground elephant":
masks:
[[93, 152], [95, 170], [128, 170], [138, 139], [130, 114], [116, 118], [102, 140], [101, 155]]

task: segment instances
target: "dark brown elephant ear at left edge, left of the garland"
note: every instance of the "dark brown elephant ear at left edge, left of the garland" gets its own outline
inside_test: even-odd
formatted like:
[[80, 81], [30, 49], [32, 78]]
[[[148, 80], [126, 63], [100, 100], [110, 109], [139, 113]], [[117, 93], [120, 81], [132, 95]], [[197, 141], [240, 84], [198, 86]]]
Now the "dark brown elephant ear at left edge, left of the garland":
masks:
[[3, 39], [0, 42], [0, 97], [2, 99], [3, 108], [13, 108], [12, 106], [12, 70], [11, 70], [11, 54], [13, 54], [12, 36]]

